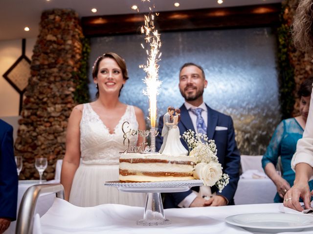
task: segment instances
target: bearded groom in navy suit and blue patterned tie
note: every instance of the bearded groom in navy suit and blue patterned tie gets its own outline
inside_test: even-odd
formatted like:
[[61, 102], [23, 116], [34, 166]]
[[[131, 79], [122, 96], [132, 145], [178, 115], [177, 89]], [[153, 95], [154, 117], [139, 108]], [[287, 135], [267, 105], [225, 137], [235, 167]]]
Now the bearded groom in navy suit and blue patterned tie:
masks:
[[[201, 66], [194, 63], [185, 63], [180, 68], [179, 90], [185, 103], [179, 108], [180, 122], [179, 132], [182, 135], [185, 131], [191, 129], [196, 133], [205, 133], [208, 139], [215, 140], [217, 147], [217, 156], [222, 164], [223, 173], [230, 177], [229, 184], [221, 193], [216, 186], [211, 187], [211, 196], [197, 196], [192, 191], [181, 193], [165, 194], [164, 208], [177, 207], [201, 207], [201, 206], [223, 206], [233, 205], [239, 180], [240, 153], [235, 141], [235, 131], [233, 121], [230, 116], [211, 109], [203, 102], [203, 91], [207, 86], [207, 80]], [[163, 128], [163, 118], [159, 118], [158, 131]], [[156, 137], [156, 150], [162, 144], [160, 134]], [[187, 144], [181, 139], [182, 144], [187, 148]], [[199, 191], [199, 187], [193, 187], [192, 190]], [[216, 195], [215, 195], [216, 193]]]

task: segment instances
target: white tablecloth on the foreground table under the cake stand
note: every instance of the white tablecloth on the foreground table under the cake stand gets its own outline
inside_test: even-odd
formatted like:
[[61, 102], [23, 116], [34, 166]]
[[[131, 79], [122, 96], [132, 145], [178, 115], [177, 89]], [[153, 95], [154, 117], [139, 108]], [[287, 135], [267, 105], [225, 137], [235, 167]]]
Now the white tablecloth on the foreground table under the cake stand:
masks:
[[[279, 213], [276, 204], [252, 204], [224, 207], [167, 209], [165, 217], [172, 221], [169, 226], [140, 227], [144, 208], [116, 204], [96, 207], [76, 207], [65, 200], [55, 198], [53, 206], [41, 217], [44, 234], [246, 234], [243, 228], [226, 224], [229, 215], [248, 213]], [[302, 233], [313, 233], [313, 228]]]

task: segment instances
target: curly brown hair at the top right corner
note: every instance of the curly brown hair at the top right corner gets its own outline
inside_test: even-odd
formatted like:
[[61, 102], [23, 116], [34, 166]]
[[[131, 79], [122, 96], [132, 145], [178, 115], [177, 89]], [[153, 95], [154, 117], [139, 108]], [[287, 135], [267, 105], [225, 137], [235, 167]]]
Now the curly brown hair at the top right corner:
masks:
[[313, 54], [313, 0], [300, 0], [292, 24], [294, 45]]

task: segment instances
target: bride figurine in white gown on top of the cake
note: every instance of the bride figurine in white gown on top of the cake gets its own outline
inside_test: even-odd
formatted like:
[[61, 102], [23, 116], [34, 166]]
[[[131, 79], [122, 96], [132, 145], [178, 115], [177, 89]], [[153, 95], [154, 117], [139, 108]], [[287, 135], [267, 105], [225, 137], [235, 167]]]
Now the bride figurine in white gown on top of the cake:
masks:
[[166, 143], [164, 150], [162, 152], [163, 155], [170, 155], [170, 156], [186, 156], [188, 150], [180, 142], [180, 134], [178, 123], [180, 120], [180, 110], [175, 109], [175, 116], [173, 119], [173, 123], [166, 122], [165, 124], [170, 127], [170, 130], [167, 135]]

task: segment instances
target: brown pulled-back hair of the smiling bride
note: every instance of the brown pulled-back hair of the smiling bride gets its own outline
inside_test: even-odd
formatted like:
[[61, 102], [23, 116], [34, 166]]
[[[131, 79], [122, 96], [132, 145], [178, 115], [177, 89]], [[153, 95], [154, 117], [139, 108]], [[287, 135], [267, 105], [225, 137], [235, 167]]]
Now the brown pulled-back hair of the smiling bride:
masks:
[[[99, 64], [100, 62], [105, 59], [105, 58], [110, 58], [110, 59], [114, 59], [115, 62], [117, 63], [117, 65], [120, 67], [121, 71], [122, 71], [122, 75], [123, 75], [123, 79], [127, 80], [129, 77], [128, 77], [128, 73], [127, 73], [127, 68], [126, 68], [126, 62], [125, 60], [120, 57], [118, 54], [115, 54], [113, 52], [109, 52], [109, 53], [105, 53], [101, 56], [99, 56], [94, 64], [93, 64], [93, 67], [92, 67], [92, 78], [96, 78], [97, 75], [98, 75], [98, 72], [99, 72]], [[121, 94], [121, 90], [123, 88], [124, 85], [122, 85], [121, 89], [119, 90], [119, 95], [118, 97], [120, 96]], [[98, 85], [96, 86], [97, 88], [97, 93], [96, 93], [96, 98], [99, 98], [99, 88], [98, 88]]]

